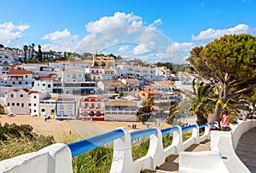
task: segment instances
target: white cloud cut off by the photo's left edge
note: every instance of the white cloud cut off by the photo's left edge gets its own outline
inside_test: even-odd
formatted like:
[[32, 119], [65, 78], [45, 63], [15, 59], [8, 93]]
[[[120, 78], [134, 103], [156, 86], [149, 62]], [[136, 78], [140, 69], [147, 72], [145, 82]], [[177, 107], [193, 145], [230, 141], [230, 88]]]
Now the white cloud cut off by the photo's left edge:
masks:
[[21, 32], [24, 32], [29, 27], [27, 24], [15, 26], [12, 22], [0, 24], [0, 43], [9, 45], [15, 40], [20, 39], [23, 37]]

